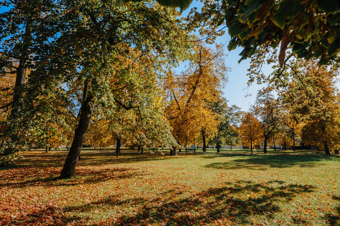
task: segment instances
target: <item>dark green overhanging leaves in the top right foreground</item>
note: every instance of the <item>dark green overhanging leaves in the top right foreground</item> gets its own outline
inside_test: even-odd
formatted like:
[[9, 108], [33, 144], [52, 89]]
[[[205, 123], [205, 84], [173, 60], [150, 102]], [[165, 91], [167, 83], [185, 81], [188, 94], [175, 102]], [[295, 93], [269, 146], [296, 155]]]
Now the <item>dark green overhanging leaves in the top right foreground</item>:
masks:
[[[259, 47], [279, 47], [283, 66], [291, 44], [298, 58], [319, 58], [319, 64], [335, 61], [340, 50], [340, 3], [319, 0], [214, 0], [193, 8], [189, 28], [201, 27], [202, 36], [222, 35], [225, 24], [231, 36], [228, 49], [243, 47], [241, 60], [252, 57]], [[215, 29], [214, 29], [215, 28]], [[280, 46], [279, 46], [280, 45]]]

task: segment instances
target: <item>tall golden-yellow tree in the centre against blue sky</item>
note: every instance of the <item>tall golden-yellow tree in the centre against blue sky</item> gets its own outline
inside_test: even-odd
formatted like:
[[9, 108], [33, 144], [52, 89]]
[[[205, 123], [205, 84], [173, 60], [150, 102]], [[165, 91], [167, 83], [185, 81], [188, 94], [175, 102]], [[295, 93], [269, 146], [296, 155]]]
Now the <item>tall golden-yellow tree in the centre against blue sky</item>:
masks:
[[[191, 143], [199, 135], [204, 143], [205, 137], [216, 129], [219, 122], [208, 105], [219, 98], [226, 73], [223, 47], [216, 45], [216, 50], [212, 50], [201, 42], [194, 46], [186, 71], [178, 76], [169, 73], [165, 84], [170, 100], [166, 115], [179, 145]], [[176, 155], [176, 147], [172, 149], [170, 155]]]

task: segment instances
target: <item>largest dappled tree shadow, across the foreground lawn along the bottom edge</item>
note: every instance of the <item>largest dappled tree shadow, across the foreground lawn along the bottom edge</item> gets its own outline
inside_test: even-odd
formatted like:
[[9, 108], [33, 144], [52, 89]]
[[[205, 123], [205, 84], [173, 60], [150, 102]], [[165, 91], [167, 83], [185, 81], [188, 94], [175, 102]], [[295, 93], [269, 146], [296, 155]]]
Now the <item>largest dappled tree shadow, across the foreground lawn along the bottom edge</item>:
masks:
[[[154, 199], [140, 196], [139, 198], [123, 199], [119, 192], [86, 205], [60, 208], [46, 204], [39, 211], [31, 210], [27, 215], [20, 215], [7, 220], [8, 224], [46, 224], [54, 225], [203, 225], [231, 224], [250, 225], [252, 218], [265, 216], [268, 220], [277, 219], [275, 212], [280, 211], [278, 203], [289, 202], [303, 193], [313, 192], [310, 185], [288, 184], [284, 181], [253, 183], [236, 181], [225, 183], [222, 187], [209, 188], [191, 194], [185, 198], [177, 198], [185, 190], [169, 189], [158, 194]], [[128, 207], [128, 208], [127, 208]], [[96, 209], [115, 209], [115, 215], [105, 215], [100, 222], [91, 222], [88, 217]], [[285, 216], [282, 215], [282, 218]], [[100, 218], [100, 217], [99, 217]], [[46, 221], [48, 219], [48, 221]], [[262, 218], [263, 219], [263, 218]], [[1, 223], [1, 221], [0, 221]]]

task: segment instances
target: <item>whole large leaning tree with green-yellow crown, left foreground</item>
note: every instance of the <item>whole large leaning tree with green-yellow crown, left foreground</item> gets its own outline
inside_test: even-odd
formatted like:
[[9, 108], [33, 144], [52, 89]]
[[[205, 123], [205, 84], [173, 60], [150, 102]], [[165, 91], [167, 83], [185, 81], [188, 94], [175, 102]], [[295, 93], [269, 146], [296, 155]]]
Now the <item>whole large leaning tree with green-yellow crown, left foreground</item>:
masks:
[[[186, 43], [182, 42], [185, 32], [180, 21], [175, 20], [178, 13], [173, 9], [140, 3], [118, 7], [112, 1], [70, 4], [76, 9], [74, 21], [78, 23], [72, 24], [75, 27], [71, 27], [70, 34], [61, 37], [60, 42], [66, 46], [65, 53], [75, 57], [70, 59], [70, 64], [74, 65], [70, 71], [73, 78], [83, 83], [83, 98], [74, 139], [60, 178], [71, 178], [74, 174], [95, 107], [119, 105], [126, 110], [138, 108], [124, 98], [120, 86], [113, 90], [110, 85], [114, 81], [123, 86], [125, 83], [129, 89], [134, 88], [130, 84], [136, 77], [124, 67], [124, 56], [150, 57], [153, 68], [157, 70], [160, 69], [157, 68], [158, 61], [176, 63], [177, 57], [183, 54], [181, 48], [186, 47]], [[68, 55], [65, 56], [67, 59]], [[155, 81], [154, 77], [144, 79]]]

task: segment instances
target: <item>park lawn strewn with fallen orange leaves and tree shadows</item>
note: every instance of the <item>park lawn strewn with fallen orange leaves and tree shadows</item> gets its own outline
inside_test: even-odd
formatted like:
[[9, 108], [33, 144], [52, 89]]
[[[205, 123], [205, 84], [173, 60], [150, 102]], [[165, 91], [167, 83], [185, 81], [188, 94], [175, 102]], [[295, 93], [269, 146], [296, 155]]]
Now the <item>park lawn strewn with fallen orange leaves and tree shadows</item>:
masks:
[[[209, 150], [209, 152], [216, 151]], [[0, 170], [0, 225], [340, 225], [340, 156], [221, 150], [26, 153]]]

